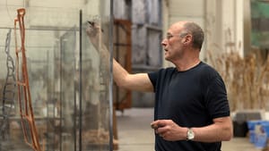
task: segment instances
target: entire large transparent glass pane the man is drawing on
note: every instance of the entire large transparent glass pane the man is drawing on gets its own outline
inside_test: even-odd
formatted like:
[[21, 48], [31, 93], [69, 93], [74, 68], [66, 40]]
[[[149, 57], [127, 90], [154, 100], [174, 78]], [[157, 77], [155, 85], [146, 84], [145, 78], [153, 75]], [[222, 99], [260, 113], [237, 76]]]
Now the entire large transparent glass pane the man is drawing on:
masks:
[[[103, 29], [99, 46], [109, 47], [110, 1], [23, 3], [0, 3], [0, 13], [6, 14], [0, 21], [0, 151], [33, 150], [33, 142], [37, 142], [31, 137], [32, 125], [27, 117], [23, 122], [29, 144], [24, 140], [17, 86], [14, 85], [15, 67], [22, 74], [22, 56], [20, 65], [16, 66], [13, 19], [16, 10], [25, 5], [25, 55], [40, 150], [109, 150], [110, 62], [108, 57], [101, 58], [98, 47], [92, 46], [86, 29], [87, 21], [99, 24]], [[20, 47], [20, 29], [16, 30]], [[20, 75], [20, 79], [22, 77]], [[21, 97], [22, 110], [30, 112], [24, 106], [27, 99]]]

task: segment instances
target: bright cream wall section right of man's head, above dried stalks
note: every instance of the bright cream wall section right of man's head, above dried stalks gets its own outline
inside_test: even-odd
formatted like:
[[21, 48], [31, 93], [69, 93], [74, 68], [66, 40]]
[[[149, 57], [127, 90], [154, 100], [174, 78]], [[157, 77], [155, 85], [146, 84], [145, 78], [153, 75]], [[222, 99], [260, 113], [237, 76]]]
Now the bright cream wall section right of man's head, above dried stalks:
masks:
[[207, 50], [243, 55], [243, 0], [206, 0]]

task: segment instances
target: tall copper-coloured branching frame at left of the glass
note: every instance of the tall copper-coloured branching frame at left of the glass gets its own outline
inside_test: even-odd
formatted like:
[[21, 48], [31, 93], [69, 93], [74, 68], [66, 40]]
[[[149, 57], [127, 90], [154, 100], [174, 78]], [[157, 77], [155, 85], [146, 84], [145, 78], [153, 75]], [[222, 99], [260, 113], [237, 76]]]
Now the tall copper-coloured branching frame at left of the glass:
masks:
[[[16, 52], [16, 83], [18, 87], [18, 101], [20, 105], [20, 114], [21, 114], [21, 119], [22, 119], [22, 131], [23, 131], [23, 136], [24, 136], [24, 140], [26, 144], [32, 147], [32, 149], [34, 149], [35, 151], [41, 151], [41, 147], [39, 145], [39, 134], [36, 128], [34, 114], [33, 114], [32, 105], [31, 105], [30, 86], [29, 86], [28, 71], [27, 71], [27, 59], [26, 59], [25, 46], [24, 46], [25, 9], [24, 8], [18, 9], [17, 13], [18, 13], [17, 18], [14, 20], [15, 52]], [[20, 49], [18, 48], [18, 41], [16, 37], [16, 26], [17, 26], [16, 23], [17, 22], [19, 22], [19, 29], [20, 29], [20, 35], [21, 35]], [[20, 57], [19, 57], [20, 54], [22, 55], [21, 70], [20, 70]], [[30, 136], [27, 135], [28, 129], [30, 130]]]

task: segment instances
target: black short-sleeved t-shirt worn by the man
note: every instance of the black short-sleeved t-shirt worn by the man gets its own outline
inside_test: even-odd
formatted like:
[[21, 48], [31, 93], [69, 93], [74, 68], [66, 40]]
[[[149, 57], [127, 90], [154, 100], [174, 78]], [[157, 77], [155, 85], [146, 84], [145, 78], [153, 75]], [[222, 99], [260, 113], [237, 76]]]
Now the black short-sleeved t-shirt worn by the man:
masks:
[[[230, 116], [220, 74], [206, 63], [187, 71], [176, 68], [148, 73], [155, 92], [154, 120], [172, 120], [182, 127], [203, 127]], [[221, 142], [166, 141], [155, 135], [156, 151], [220, 151]]]

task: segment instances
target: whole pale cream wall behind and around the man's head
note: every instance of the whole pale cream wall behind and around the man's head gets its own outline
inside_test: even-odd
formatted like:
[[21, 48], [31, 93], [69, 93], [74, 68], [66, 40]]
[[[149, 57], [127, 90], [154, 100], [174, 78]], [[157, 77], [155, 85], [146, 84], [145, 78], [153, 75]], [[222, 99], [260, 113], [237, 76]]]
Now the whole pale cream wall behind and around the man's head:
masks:
[[[173, 22], [195, 21], [205, 32], [202, 60], [209, 50], [213, 53], [238, 51], [243, 55], [244, 3], [244, 0], [165, 0], [163, 35]], [[164, 62], [164, 66], [169, 65]]]

